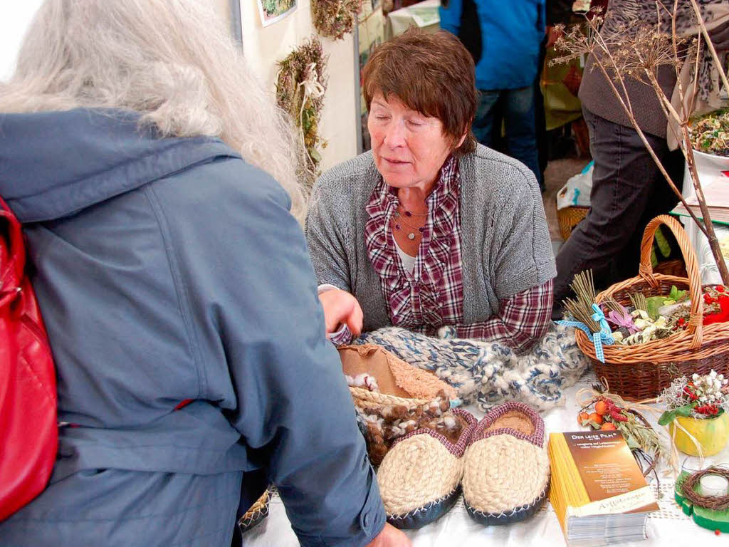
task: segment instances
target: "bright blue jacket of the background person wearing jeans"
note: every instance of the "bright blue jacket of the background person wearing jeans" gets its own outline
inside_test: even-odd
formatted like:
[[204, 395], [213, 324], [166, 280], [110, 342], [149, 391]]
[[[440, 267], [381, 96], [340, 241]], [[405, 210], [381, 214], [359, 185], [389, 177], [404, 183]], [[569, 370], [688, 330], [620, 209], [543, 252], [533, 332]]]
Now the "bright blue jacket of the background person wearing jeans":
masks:
[[[474, 17], [464, 10], [468, 1], [475, 4], [475, 28], [480, 29], [476, 88], [518, 89], [534, 84], [539, 45], [545, 37], [545, 0], [449, 0], [447, 7], [440, 8], [440, 28], [456, 36], [462, 27], [472, 28], [475, 22], [463, 19], [464, 15]], [[477, 36], [461, 39], [471, 42]]]

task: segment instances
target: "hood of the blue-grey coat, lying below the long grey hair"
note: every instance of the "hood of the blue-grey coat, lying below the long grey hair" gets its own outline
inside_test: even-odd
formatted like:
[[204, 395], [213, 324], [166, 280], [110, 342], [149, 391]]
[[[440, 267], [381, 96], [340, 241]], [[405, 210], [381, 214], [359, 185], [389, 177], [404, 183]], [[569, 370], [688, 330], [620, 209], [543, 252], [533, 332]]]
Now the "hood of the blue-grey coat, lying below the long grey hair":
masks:
[[20, 222], [57, 220], [190, 166], [240, 155], [219, 139], [160, 139], [125, 110], [0, 114], [0, 197]]

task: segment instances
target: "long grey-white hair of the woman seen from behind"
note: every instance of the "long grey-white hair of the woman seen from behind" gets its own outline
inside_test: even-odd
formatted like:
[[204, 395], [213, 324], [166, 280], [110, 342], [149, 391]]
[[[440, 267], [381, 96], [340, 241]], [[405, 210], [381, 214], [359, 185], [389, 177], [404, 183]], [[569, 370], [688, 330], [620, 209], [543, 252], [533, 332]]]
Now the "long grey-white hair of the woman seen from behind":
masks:
[[276, 178], [301, 220], [290, 125], [207, 4], [46, 0], [0, 84], [0, 112], [123, 108], [162, 136], [217, 136]]

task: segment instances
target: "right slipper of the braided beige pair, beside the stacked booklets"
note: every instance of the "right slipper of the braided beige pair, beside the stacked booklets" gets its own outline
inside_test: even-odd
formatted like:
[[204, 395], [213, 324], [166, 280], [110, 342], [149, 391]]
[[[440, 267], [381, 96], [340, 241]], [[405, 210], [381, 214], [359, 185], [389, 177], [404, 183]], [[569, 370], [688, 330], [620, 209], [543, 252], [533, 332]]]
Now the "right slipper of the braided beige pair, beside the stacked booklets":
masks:
[[523, 403], [504, 403], [475, 428], [464, 456], [463, 499], [481, 524], [509, 524], [534, 515], [549, 490], [545, 424]]

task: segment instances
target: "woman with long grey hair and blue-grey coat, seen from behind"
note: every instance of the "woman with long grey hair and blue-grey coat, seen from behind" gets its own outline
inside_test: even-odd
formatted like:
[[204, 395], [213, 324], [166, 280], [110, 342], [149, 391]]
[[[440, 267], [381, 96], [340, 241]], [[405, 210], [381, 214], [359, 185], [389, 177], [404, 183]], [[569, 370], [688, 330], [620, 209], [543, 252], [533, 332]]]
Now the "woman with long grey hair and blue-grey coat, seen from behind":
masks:
[[303, 546], [410, 545], [324, 337], [287, 131], [201, 1], [42, 6], [0, 86], [0, 195], [62, 426], [2, 545], [228, 547], [254, 470]]

